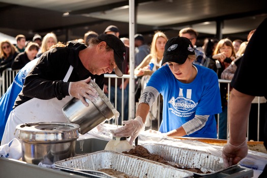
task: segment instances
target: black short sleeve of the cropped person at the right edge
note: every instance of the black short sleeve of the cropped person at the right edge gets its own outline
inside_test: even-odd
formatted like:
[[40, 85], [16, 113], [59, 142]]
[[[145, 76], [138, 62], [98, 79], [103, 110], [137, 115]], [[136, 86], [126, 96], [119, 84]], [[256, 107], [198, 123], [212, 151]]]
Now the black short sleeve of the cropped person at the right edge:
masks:
[[267, 43], [263, 42], [267, 40], [266, 32], [267, 18], [252, 35], [231, 81], [232, 87], [247, 95], [267, 96]]

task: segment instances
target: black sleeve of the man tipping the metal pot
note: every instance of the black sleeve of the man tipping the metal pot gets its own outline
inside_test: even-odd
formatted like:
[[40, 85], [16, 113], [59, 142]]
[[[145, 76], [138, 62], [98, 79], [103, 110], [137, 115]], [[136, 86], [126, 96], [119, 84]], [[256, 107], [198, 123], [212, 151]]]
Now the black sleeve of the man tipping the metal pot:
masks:
[[63, 82], [70, 66], [66, 61], [68, 50], [58, 50], [61, 49], [54, 48], [40, 57], [38, 64], [25, 79], [23, 95], [44, 100], [55, 97], [61, 100], [69, 95], [69, 83]]

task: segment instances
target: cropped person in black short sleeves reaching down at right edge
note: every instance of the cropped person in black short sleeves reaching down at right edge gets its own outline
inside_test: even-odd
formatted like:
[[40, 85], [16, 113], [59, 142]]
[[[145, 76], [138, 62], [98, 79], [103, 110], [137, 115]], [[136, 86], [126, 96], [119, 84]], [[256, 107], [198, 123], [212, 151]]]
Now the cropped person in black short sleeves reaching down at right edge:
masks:
[[[226, 167], [237, 164], [247, 156], [246, 133], [251, 102], [255, 96], [267, 98], [267, 60], [264, 50], [266, 43], [262, 43], [263, 39], [267, 39], [266, 31], [267, 18], [263, 20], [252, 35], [242, 61], [231, 81], [233, 90], [229, 97], [228, 113], [230, 137], [222, 151]], [[257, 59], [257, 61], [254, 61], [254, 59]], [[265, 118], [264, 126], [264, 146], [267, 148], [267, 118]], [[259, 177], [266, 176], [267, 165]]]

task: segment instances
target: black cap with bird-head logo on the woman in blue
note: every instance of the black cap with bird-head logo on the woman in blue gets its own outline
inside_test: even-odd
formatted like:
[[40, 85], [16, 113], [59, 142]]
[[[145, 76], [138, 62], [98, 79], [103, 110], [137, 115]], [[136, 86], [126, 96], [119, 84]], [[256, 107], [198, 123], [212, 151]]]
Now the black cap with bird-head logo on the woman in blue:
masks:
[[165, 44], [162, 65], [166, 62], [184, 64], [188, 55], [195, 55], [191, 41], [185, 37], [173, 37]]

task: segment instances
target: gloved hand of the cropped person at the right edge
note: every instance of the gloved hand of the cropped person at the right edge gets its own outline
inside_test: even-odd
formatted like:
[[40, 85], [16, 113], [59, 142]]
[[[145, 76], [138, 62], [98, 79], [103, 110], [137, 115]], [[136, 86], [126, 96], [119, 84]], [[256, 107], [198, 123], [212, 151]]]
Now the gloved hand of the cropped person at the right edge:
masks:
[[243, 158], [248, 155], [248, 145], [245, 140], [242, 144], [235, 146], [227, 141], [227, 144], [223, 147], [222, 157], [225, 168], [238, 164]]

